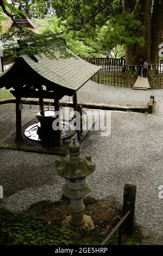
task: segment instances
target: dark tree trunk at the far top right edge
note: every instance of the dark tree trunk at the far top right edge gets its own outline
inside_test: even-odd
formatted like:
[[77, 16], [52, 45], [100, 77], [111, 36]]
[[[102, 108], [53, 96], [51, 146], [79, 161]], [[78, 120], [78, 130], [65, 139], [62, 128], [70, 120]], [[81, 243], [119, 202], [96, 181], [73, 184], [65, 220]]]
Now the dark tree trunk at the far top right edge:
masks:
[[163, 36], [163, 3], [154, 1], [152, 22], [151, 22], [151, 63], [159, 63], [159, 44], [162, 43]]

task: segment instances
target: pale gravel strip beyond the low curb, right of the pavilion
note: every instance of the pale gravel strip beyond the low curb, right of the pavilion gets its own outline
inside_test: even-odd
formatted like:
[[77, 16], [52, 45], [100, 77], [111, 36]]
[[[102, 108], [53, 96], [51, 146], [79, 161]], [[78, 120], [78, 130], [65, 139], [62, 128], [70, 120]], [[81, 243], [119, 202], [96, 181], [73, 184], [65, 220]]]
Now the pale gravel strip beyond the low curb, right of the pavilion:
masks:
[[121, 106], [147, 106], [151, 95], [155, 96], [155, 100], [158, 103], [163, 99], [163, 89], [133, 90], [131, 88], [98, 84], [90, 80], [78, 91], [77, 95], [78, 101], [81, 102]]

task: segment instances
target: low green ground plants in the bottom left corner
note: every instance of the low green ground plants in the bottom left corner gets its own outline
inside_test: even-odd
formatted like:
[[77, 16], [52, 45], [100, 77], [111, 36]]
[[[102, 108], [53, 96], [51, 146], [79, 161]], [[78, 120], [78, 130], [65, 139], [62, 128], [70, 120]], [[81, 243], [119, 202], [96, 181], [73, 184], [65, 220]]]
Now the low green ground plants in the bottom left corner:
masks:
[[9, 232], [9, 245], [71, 245], [77, 233], [57, 227], [33, 213], [14, 213], [0, 208], [0, 227]]

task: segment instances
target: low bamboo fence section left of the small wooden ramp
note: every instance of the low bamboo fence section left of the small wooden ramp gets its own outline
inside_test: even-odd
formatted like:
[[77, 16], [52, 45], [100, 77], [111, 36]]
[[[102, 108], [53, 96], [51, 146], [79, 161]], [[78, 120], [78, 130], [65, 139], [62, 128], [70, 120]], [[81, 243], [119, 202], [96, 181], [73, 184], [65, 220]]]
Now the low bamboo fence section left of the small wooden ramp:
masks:
[[110, 84], [111, 86], [120, 86], [120, 87], [133, 87], [136, 78], [138, 76], [138, 71], [135, 70], [133, 74], [128, 72], [126, 74], [122, 72], [108, 72], [100, 73], [92, 77], [92, 81], [102, 84]]

